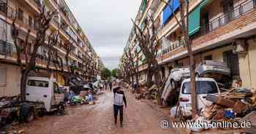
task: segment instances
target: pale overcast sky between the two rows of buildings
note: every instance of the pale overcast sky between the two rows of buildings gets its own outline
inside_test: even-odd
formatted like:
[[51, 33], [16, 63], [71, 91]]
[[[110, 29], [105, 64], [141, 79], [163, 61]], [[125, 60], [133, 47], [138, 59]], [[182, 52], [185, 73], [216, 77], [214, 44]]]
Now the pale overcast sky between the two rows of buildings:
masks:
[[66, 0], [107, 68], [117, 68], [141, 0]]

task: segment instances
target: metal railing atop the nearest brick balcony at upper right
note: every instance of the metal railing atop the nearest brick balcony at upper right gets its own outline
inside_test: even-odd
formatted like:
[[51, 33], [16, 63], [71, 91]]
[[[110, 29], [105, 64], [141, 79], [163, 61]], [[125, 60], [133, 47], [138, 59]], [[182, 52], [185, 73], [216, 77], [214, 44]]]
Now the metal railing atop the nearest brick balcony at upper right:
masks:
[[223, 25], [226, 25], [227, 23], [230, 23], [233, 20], [236, 20], [236, 18], [246, 14], [246, 12], [255, 9], [255, 7], [256, 0], [246, 0], [238, 6], [234, 7], [233, 9], [230, 9], [230, 11], [223, 13], [223, 15], [217, 17], [214, 20], [211, 20], [210, 23], [203, 25], [203, 27], [201, 28], [201, 33], [206, 34], [211, 31], [214, 31], [215, 29]]

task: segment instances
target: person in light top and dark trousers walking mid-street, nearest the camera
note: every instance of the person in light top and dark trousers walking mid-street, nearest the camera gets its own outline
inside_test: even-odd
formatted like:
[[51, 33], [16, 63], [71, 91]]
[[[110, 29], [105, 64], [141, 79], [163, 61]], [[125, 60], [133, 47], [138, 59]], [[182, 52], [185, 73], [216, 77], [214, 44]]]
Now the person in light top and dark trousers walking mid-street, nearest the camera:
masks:
[[121, 90], [121, 87], [116, 87], [113, 89], [114, 92], [114, 117], [115, 117], [115, 125], [117, 124], [117, 116], [119, 111], [120, 117], [120, 127], [123, 127], [123, 113], [124, 113], [124, 105], [127, 108], [127, 100], [124, 95], [124, 91]]

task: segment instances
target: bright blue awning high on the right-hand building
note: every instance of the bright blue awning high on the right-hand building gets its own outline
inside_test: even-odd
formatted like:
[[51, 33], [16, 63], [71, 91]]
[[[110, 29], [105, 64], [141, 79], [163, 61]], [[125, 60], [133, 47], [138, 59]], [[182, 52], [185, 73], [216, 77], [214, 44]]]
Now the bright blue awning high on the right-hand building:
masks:
[[170, 0], [169, 4], [173, 8], [173, 10], [171, 10], [168, 5], [165, 6], [165, 9], [162, 12], [162, 24], [167, 23], [170, 17], [173, 16], [173, 12], [176, 12], [178, 7], [180, 7], [179, 0]]

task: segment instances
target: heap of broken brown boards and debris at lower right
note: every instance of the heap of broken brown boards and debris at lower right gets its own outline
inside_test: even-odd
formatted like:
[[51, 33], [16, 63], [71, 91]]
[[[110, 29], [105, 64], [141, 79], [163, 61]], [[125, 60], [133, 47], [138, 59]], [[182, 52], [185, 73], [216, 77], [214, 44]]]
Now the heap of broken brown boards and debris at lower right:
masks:
[[219, 95], [206, 95], [206, 100], [213, 103], [201, 110], [206, 119], [235, 119], [256, 110], [254, 89], [232, 89]]

